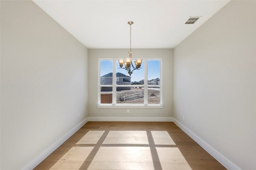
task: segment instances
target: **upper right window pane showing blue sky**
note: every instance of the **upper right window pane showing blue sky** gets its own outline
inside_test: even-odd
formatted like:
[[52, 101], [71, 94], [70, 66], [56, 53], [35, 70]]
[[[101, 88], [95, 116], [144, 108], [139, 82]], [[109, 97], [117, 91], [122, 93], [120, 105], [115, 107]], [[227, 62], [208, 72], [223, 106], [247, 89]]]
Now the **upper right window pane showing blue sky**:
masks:
[[148, 85], [160, 85], [160, 60], [148, 60]]

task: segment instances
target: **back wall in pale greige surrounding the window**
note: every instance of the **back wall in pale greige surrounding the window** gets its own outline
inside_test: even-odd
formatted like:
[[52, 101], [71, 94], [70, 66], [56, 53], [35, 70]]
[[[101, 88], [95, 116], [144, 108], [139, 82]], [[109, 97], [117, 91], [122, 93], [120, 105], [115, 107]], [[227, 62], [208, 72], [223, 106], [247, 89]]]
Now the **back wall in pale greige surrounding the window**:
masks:
[[[163, 61], [163, 105], [164, 108], [97, 108], [98, 104], [98, 59], [128, 56], [128, 49], [89, 49], [89, 117], [172, 117], [173, 99], [173, 50], [132, 49], [133, 58], [162, 58]], [[111, 119], [108, 119], [111, 120]], [[114, 120], [114, 119], [112, 119]], [[118, 119], [120, 120], [120, 119]], [[122, 119], [122, 120], [125, 120]], [[126, 119], [127, 120], [127, 119]], [[133, 119], [136, 120], [136, 119]], [[137, 119], [139, 120], [139, 119]], [[168, 121], [168, 119], [166, 119]]]

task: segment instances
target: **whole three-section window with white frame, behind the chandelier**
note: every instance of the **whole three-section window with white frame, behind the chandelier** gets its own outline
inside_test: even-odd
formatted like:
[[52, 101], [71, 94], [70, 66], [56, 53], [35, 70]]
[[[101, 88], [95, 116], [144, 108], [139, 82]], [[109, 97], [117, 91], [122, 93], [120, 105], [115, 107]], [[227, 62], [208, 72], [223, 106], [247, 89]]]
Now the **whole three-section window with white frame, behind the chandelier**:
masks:
[[161, 106], [161, 74], [161, 59], [143, 59], [131, 76], [116, 59], [99, 59], [98, 106]]

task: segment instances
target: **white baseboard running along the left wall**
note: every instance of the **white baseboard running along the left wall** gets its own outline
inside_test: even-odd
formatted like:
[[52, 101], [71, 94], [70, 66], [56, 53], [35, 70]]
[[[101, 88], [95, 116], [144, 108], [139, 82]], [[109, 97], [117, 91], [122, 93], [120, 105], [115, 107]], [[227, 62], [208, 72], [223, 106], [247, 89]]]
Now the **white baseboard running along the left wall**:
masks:
[[84, 119], [78, 125], [73, 127], [68, 133], [60, 137], [56, 142], [42, 151], [36, 158], [34, 158], [30, 163], [28, 163], [22, 170], [32, 170], [35, 168], [42, 160], [49, 156], [54, 150], [56, 150], [62, 143], [64, 143], [69, 137], [71, 137], [78, 129], [80, 129], [85, 123], [88, 122], [88, 118]]

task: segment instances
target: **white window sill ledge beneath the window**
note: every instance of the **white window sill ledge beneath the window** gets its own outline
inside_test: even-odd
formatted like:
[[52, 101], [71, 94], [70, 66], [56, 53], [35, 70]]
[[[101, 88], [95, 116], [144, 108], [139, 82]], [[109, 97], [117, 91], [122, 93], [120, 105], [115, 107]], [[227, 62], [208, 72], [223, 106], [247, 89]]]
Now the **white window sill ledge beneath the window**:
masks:
[[98, 104], [97, 108], [164, 108], [164, 105], [113, 105]]

